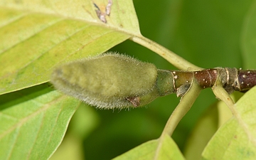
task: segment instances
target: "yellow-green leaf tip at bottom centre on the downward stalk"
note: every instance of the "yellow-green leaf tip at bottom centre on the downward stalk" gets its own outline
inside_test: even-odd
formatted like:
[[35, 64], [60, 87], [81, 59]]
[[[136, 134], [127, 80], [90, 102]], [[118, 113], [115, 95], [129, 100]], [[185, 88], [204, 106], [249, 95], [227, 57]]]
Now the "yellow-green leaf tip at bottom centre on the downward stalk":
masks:
[[[162, 139], [162, 144], [159, 145], [160, 139], [151, 140], [134, 149], [127, 151], [126, 153], [117, 156], [114, 160], [128, 160], [128, 159], [138, 159], [138, 160], [168, 160], [168, 159], [183, 159], [181, 151], [179, 151], [178, 146], [168, 134], [165, 134]], [[157, 147], [160, 147], [159, 149]], [[158, 152], [158, 153], [157, 153]], [[156, 156], [157, 153], [157, 156]]]

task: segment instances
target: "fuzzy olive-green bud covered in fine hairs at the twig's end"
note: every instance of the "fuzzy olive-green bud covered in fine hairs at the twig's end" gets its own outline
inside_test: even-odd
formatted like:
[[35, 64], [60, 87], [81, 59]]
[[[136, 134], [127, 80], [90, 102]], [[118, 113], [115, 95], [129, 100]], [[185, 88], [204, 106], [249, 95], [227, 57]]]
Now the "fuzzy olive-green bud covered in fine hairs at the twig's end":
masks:
[[158, 70], [128, 55], [104, 53], [60, 65], [51, 82], [60, 92], [102, 109], [139, 107], [159, 97]]

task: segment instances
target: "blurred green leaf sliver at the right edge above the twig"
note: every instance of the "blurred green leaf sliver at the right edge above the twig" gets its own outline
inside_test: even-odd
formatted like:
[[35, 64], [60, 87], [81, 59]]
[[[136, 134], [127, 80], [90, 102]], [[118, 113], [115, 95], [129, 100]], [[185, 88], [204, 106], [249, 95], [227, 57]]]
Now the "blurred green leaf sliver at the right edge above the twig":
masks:
[[242, 55], [245, 68], [256, 68], [255, 50], [256, 50], [256, 1], [252, 3], [250, 10], [245, 17], [245, 24], [242, 30]]

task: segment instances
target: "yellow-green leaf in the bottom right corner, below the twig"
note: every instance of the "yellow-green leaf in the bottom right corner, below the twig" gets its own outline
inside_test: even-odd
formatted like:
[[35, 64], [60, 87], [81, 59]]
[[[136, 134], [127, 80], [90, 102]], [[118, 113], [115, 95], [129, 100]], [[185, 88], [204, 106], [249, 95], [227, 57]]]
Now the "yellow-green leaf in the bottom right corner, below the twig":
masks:
[[236, 115], [223, 124], [203, 151], [203, 159], [256, 159], [256, 87], [235, 105]]

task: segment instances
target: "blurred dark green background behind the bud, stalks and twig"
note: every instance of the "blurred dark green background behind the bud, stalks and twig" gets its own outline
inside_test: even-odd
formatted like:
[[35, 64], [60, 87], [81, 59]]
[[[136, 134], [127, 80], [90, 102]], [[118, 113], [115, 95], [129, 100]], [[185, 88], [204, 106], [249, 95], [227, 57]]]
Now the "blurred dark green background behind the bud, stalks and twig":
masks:
[[[242, 52], [243, 28], [252, 4], [255, 1], [134, 0], [142, 35], [202, 68], [255, 66], [246, 64]], [[154, 63], [157, 68], [176, 69], [164, 58], [132, 41], [125, 41], [111, 50]], [[82, 105], [59, 151], [66, 144], [76, 151], [75, 159], [112, 159], [157, 139], [179, 100], [176, 95], [169, 95], [146, 107], [121, 111], [96, 110]], [[181, 151], [198, 117], [216, 101], [210, 89], [203, 90], [178, 124], [173, 139]], [[72, 143], [68, 143], [68, 139], [73, 139]], [[82, 149], [76, 148], [74, 139]], [[58, 157], [59, 151], [53, 159]]]

